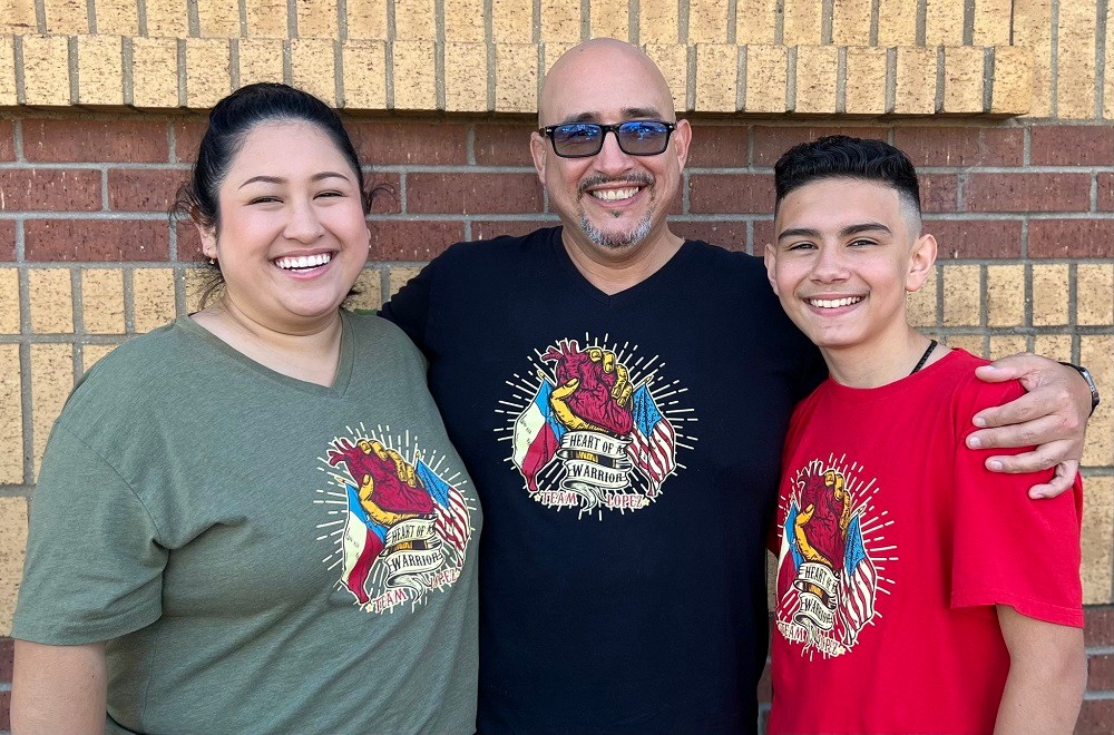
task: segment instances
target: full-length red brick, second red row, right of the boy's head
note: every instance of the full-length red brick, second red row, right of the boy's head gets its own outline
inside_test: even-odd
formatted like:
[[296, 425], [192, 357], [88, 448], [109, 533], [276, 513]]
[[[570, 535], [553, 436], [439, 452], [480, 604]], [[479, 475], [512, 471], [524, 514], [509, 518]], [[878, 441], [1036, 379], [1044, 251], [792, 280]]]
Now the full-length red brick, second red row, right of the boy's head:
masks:
[[1089, 174], [971, 174], [964, 189], [968, 212], [1086, 212]]

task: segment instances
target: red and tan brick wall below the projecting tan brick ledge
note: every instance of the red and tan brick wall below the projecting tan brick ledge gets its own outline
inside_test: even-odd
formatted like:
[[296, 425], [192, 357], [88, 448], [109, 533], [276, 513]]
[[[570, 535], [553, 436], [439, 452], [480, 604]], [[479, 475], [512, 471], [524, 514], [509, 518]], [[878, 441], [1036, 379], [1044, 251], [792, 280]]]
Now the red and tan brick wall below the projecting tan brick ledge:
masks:
[[[375, 205], [360, 305], [378, 304], [453, 241], [554, 219], [530, 167], [528, 120], [364, 117], [350, 128], [372, 178], [393, 188]], [[75, 378], [113, 345], [195, 307], [196, 236], [165, 213], [202, 130], [182, 116], [0, 120], [0, 633], [22, 562], [26, 497]], [[677, 231], [761, 252], [776, 156], [836, 130], [890, 140], [922, 173], [941, 256], [911, 301], [918, 323], [976, 353], [1082, 361], [1114, 393], [1114, 128], [697, 118]], [[1114, 401], [1092, 421], [1084, 463], [1091, 683], [1079, 732], [1100, 733], [1114, 723]], [[0, 729], [9, 650], [0, 641]]]

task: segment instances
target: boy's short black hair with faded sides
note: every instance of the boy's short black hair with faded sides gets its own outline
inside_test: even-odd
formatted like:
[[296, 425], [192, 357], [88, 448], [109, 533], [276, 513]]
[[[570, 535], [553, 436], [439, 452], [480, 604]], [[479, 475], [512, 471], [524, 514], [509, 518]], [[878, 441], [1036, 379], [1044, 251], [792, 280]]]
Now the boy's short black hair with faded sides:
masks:
[[920, 216], [917, 169], [909, 157], [888, 143], [829, 135], [786, 150], [774, 165], [778, 190], [774, 212], [791, 192], [825, 178], [879, 182], [897, 189]]

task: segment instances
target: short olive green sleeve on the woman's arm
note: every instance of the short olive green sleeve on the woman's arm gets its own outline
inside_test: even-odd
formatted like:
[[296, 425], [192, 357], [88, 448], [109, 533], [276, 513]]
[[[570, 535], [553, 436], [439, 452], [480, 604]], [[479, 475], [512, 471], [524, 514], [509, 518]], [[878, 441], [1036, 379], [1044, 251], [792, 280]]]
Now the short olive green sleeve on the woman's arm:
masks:
[[31, 499], [12, 637], [80, 645], [154, 623], [167, 558], [158, 537], [127, 482], [56, 423]]

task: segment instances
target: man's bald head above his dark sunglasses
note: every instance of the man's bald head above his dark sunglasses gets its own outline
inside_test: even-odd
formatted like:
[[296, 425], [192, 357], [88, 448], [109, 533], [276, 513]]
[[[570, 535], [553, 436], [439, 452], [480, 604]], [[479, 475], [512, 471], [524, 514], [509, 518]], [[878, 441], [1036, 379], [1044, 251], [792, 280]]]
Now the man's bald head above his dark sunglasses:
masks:
[[637, 46], [596, 38], [566, 51], [546, 75], [538, 126], [598, 120], [620, 108], [624, 119], [676, 120], [670, 85]]

